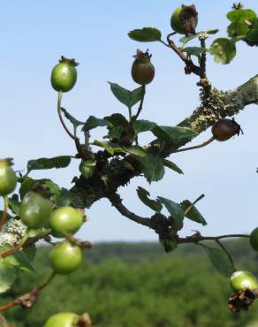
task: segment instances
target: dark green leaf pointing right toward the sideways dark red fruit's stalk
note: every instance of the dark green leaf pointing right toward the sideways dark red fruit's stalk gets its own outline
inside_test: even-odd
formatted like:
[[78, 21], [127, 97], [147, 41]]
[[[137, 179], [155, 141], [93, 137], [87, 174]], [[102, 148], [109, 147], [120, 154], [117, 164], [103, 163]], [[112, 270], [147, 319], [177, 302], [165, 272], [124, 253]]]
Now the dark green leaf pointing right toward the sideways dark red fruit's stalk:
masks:
[[160, 141], [172, 141], [175, 143], [179, 141], [191, 141], [198, 135], [197, 132], [188, 127], [158, 125], [153, 129], [152, 133], [154, 133]]

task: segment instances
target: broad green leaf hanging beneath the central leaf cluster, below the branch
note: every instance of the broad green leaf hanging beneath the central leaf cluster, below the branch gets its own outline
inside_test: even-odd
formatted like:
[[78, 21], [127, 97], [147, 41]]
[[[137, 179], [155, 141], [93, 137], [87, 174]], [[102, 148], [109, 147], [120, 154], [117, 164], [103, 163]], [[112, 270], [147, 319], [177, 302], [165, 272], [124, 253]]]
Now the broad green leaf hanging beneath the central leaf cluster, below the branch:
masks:
[[165, 171], [160, 157], [147, 154], [147, 156], [135, 156], [135, 158], [142, 164], [142, 171], [148, 183], [163, 179]]

